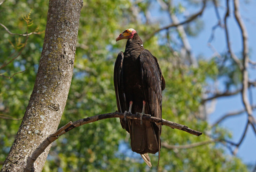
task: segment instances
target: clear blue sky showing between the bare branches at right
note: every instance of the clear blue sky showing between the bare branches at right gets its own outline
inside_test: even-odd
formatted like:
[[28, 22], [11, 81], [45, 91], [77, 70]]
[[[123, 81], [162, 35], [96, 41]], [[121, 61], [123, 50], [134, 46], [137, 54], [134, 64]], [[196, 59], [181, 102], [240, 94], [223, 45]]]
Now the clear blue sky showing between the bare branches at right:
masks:
[[[200, 1], [199, 1], [200, 2]], [[222, 0], [220, 1], [220, 17], [223, 19], [224, 14], [226, 13], [226, 1]], [[182, 3], [182, 5], [187, 6], [186, 1], [174, 1], [175, 4]], [[156, 8], [158, 6], [158, 8]], [[162, 26], [169, 25], [170, 22], [168, 18], [168, 14], [163, 14], [159, 9], [158, 4], [152, 5], [151, 15], [152, 15], [152, 21], [162, 21]], [[233, 15], [233, 1], [230, 0], [230, 11], [231, 15], [228, 18], [228, 31], [230, 35], [230, 42], [233, 51], [236, 53], [236, 55], [239, 57], [240, 52], [242, 50], [242, 37], [240, 30], [238, 28], [238, 25], [236, 24], [236, 21], [234, 20]], [[244, 20], [244, 23], [246, 25], [246, 29], [249, 35], [249, 48], [250, 48], [250, 59], [252, 61], [256, 61], [256, 34], [255, 34], [255, 26], [256, 26], [256, 1], [255, 0], [249, 0], [249, 3], [246, 3], [246, 1], [240, 0], [240, 12], [241, 16]], [[199, 11], [201, 9], [201, 5], [199, 6], [190, 6], [186, 11], [185, 14], [188, 16]], [[184, 17], [179, 18], [180, 21], [184, 21]], [[204, 56], [206, 59], [209, 59], [212, 57], [212, 50], [207, 46], [207, 42], [211, 36], [212, 32], [212, 26], [217, 24], [217, 18], [215, 15], [214, 7], [212, 5], [212, 1], [209, 1], [207, 3], [207, 7], [204, 10], [203, 15], [201, 16], [201, 19], [204, 21], [204, 28], [203, 30], [198, 34], [196, 37], [189, 37], [189, 43], [192, 48], [192, 53], [197, 56]], [[163, 22], [164, 21], [164, 22]], [[164, 31], [165, 32], [165, 31]], [[214, 48], [221, 54], [224, 52], [227, 52], [227, 44], [226, 44], [226, 38], [225, 38], [225, 32], [222, 28], [217, 28], [215, 30], [215, 37], [212, 41], [212, 45]], [[256, 79], [256, 70], [249, 70], [249, 76], [251, 80]], [[224, 85], [221, 83], [221, 80], [219, 81], [219, 89], [223, 90]], [[256, 90], [252, 90], [253, 100], [255, 104], [256, 100]], [[210, 114], [209, 116], [209, 122], [210, 124], [214, 123], [217, 119], [219, 119], [221, 116], [228, 112], [238, 111], [242, 110], [243, 104], [241, 99], [241, 94], [238, 94], [236, 96], [228, 97], [228, 98], [219, 98], [217, 100], [217, 104], [215, 107], [215, 111]], [[255, 111], [253, 112], [255, 116]], [[247, 116], [246, 113], [231, 117], [226, 120], [224, 120], [220, 125], [228, 128], [232, 134], [233, 138], [231, 139], [235, 143], [237, 143], [244, 131], [244, 127], [247, 122]], [[249, 130], [247, 131], [247, 134], [245, 136], [244, 142], [240, 145], [239, 151], [237, 156], [240, 157], [246, 164], [251, 163], [255, 164], [256, 161], [256, 136], [252, 131], [252, 128], [249, 127]], [[229, 151], [227, 151], [227, 154], [230, 154]]]

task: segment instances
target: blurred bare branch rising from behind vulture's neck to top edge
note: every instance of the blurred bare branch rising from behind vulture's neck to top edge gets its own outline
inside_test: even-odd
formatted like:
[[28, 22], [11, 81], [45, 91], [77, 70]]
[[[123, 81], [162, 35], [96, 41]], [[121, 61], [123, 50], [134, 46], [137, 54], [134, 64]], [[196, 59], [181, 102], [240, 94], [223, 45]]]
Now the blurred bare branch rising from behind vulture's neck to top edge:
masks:
[[171, 27], [177, 27], [177, 26], [179, 26], [179, 25], [184, 25], [184, 24], [186, 24], [186, 23], [190, 23], [191, 21], [193, 21], [194, 19], [196, 19], [198, 16], [201, 16], [201, 15], [203, 14], [204, 9], [205, 9], [205, 6], [206, 6], [206, 0], [203, 0], [202, 3], [203, 3], [203, 6], [202, 6], [201, 10], [198, 11], [197, 13], [191, 15], [190, 17], [188, 17], [187, 20], [185, 20], [185, 21], [183, 21], [183, 22], [180, 22], [180, 23], [176, 23], [176, 24], [172, 23], [171, 25], [168, 25], [168, 26], [165, 26], [165, 27], [163, 27], [163, 28], [157, 29], [155, 32], [149, 34], [149, 36], [145, 38], [145, 42], [146, 42], [148, 39], [150, 39], [152, 36], [154, 36], [156, 33], [160, 32], [160, 31], [162, 31], [162, 30], [169, 29], [169, 28], [171, 28]]

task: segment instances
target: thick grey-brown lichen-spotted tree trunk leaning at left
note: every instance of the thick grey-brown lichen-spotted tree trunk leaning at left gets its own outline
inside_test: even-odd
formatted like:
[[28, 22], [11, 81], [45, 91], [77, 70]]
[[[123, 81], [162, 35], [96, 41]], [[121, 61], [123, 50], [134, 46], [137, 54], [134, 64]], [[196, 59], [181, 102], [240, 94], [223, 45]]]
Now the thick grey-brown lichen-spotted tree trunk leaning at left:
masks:
[[[83, 0], [50, 0], [44, 45], [28, 107], [1, 171], [30, 171], [29, 156], [60, 123], [73, 74]], [[42, 171], [49, 145], [34, 163]]]

